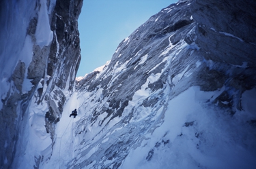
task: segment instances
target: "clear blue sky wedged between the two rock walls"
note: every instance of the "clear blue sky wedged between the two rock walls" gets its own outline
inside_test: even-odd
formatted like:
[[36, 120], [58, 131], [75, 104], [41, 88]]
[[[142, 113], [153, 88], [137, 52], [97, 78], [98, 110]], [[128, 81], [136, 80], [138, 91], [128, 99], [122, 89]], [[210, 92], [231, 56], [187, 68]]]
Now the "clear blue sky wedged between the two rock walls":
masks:
[[81, 63], [76, 77], [111, 60], [117, 45], [177, 0], [85, 0], [79, 16]]

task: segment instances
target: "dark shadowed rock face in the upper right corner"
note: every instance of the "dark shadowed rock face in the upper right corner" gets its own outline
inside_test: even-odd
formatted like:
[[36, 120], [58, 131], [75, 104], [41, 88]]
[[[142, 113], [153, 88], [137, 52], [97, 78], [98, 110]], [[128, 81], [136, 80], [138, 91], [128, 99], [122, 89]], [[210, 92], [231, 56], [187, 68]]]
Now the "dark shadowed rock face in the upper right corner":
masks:
[[191, 10], [198, 22], [197, 44], [207, 52], [204, 56], [255, 67], [255, 8], [253, 1], [195, 1]]

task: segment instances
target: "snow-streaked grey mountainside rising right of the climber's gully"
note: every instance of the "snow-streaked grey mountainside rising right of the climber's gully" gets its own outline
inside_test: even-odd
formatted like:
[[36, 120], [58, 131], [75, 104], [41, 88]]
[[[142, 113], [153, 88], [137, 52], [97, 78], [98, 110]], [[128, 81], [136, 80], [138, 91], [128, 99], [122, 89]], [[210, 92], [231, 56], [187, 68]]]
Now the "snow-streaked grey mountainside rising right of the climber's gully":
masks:
[[68, 168], [254, 168], [253, 9], [179, 1], [124, 39], [77, 83]]

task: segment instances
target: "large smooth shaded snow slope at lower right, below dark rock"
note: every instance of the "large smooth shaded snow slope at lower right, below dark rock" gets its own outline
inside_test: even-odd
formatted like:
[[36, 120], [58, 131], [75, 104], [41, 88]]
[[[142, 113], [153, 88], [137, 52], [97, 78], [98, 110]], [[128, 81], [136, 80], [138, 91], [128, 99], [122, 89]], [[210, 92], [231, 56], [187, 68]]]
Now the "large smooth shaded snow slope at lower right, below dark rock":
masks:
[[[255, 92], [250, 91], [251, 96]], [[246, 146], [235, 148], [242, 146], [235, 140], [244, 139], [237, 135], [237, 130], [243, 131], [238, 121], [205, 105], [218, 93], [203, 92], [194, 86], [170, 100], [164, 122], [147, 134], [141, 146], [130, 150], [120, 168], [253, 168], [256, 162], [251, 153], [244, 151]], [[249, 109], [255, 111], [255, 104]], [[184, 126], [190, 121], [192, 126]], [[156, 143], [160, 146], [156, 147]]]

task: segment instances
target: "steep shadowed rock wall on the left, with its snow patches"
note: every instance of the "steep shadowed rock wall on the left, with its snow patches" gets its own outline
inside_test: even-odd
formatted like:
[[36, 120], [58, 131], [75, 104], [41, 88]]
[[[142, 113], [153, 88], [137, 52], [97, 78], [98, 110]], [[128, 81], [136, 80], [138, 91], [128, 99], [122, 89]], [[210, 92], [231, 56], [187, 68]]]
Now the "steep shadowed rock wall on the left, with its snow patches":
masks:
[[[18, 167], [29, 146], [26, 128], [36, 125], [31, 119], [41, 116], [54, 138], [68, 96], [63, 91], [74, 90], [81, 60], [81, 6], [81, 0], [1, 1], [1, 168]], [[29, 107], [45, 107], [44, 114]]]

